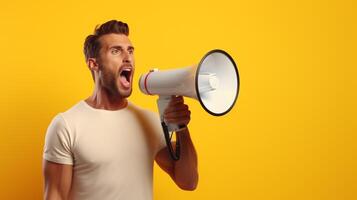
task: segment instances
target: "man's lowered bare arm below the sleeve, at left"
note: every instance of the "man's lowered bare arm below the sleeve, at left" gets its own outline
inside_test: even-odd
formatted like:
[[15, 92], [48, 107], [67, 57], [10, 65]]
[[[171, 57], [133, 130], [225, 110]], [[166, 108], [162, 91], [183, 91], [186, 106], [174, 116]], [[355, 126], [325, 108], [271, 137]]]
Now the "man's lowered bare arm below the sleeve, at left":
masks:
[[72, 165], [43, 161], [45, 200], [67, 200], [72, 183]]

